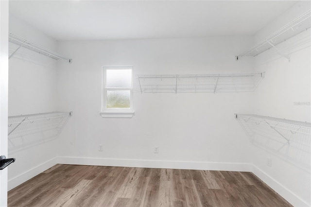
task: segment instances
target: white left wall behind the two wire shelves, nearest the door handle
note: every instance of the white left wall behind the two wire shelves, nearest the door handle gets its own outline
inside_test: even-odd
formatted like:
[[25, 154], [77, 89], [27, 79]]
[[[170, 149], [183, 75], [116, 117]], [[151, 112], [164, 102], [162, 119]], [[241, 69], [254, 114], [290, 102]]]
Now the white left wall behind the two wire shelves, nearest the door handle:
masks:
[[[54, 39], [13, 16], [9, 18], [9, 32], [50, 50], [57, 48]], [[16, 48], [17, 45], [10, 43], [10, 54]], [[56, 68], [56, 60], [25, 48], [10, 58], [9, 116], [56, 111]], [[30, 130], [25, 133], [30, 133]], [[9, 141], [12, 138], [15, 137], [9, 136]], [[56, 163], [55, 139], [47, 141], [41, 137], [35, 143], [29, 143], [29, 140], [32, 139], [21, 137], [23, 147], [9, 144], [9, 156], [16, 158], [8, 172], [9, 190]]]

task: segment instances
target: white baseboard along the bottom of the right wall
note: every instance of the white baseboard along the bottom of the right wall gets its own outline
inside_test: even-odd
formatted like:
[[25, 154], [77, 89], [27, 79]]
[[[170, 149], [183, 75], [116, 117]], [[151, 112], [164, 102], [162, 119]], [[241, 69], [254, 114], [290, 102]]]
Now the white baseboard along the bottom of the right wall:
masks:
[[259, 179], [265, 182], [270, 188], [280, 194], [285, 200], [290, 202], [294, 207], [310, 207], [310, 203], [308, 204], [308, 202], [299, 198], [291, 190], [285, 188], [282, 184], [277, 182], [274, 178], [260, 170], [255, 165], [252, 165], [252, 173], [259, 177]]

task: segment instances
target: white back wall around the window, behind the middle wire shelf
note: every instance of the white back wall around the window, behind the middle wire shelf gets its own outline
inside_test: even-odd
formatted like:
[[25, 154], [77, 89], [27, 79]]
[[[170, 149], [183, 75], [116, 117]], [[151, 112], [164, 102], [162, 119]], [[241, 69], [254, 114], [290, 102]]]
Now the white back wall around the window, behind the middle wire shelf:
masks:
[[73, 62], [58, 69], [57, 103], [74, 115], [60, 136], [60, 162], [249, 171], [249, 142], [233, 114], [253, 110], [253, 93], [140, 94], [135, 79], [133, 118], [99, 112], [102, 66], [131, 65], [135, 76], [252, 72], [251, 59], [235, 61], [251, 43], [250, 36], [61, 42]]

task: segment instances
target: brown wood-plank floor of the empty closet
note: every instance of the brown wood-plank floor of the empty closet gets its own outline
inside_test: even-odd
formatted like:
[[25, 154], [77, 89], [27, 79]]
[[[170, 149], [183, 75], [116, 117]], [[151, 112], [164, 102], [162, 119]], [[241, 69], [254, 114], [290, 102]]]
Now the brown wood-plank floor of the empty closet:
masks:
[[291, 207], [253, 173], [55, 165], [9, 207]]

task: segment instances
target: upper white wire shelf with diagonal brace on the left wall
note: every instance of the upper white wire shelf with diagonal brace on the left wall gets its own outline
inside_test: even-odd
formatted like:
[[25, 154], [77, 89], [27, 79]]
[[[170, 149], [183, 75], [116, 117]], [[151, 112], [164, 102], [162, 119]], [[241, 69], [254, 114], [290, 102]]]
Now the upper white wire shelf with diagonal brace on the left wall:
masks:
[[40, 54], [43, 54], [43, 55], [46, 55], [48, 57], [51, 57], [55, 60], [65, 60], [65, 61], [68, 61], [69, 63], [71, 63], [72, 59], [69, 59], [67, 57], [64, 57], [63, 55], [60, 55], [56, 52], [53, 52], [53, 51], [50, 51], [44, 47], [41, 47], [29, 40], [26, 40], [20, 36], [17, 36], [17, 35], [14, 35], [12, 33], [9, 33], [9, 41], [14, 43], [14, 44], [17, 44], [19, 45], [19, 47], [17, 48], [17, 50], [15, 50], [10, 56], [9, 58], [11, 58], [15, 52], [17, 52], [21, 47], [24, 47], [24, 48], [27, 48], [29, 50], [32, 50], [32, 51], [35, 51], [35, 52], [38, 52]]

